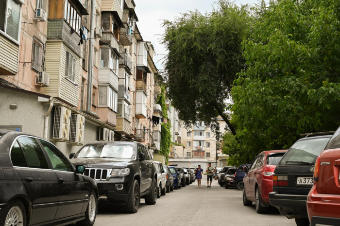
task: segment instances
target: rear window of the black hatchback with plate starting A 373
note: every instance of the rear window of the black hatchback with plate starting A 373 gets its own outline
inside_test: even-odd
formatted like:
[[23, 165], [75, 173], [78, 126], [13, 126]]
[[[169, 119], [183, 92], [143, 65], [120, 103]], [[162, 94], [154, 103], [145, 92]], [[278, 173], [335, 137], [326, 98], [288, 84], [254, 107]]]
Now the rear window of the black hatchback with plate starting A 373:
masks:
[[282, 157], [279, 166], [314, 165], [329, 139], [328, 137], [297, 141]]

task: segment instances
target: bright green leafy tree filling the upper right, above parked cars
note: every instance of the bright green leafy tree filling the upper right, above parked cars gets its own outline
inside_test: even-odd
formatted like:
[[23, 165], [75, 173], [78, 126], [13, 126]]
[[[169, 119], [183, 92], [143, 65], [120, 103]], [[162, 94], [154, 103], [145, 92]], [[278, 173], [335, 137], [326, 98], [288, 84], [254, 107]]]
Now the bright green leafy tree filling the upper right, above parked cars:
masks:
[[289, 148], [300, 133], [339, 126], [339, 0], [278, 0], [242, 48], [246, 69], [231, 91], [239, 144], [226, 135], [223, 149], [231, 159], [250, 161]]

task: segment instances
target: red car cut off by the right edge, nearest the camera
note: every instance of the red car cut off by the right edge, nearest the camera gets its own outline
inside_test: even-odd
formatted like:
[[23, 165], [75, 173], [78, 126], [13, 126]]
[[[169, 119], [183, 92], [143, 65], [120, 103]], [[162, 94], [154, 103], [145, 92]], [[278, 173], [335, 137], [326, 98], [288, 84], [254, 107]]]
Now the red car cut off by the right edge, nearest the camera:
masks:
[[340, 225], [340, 128], [316, 160], [307, 212], [311, 226]]

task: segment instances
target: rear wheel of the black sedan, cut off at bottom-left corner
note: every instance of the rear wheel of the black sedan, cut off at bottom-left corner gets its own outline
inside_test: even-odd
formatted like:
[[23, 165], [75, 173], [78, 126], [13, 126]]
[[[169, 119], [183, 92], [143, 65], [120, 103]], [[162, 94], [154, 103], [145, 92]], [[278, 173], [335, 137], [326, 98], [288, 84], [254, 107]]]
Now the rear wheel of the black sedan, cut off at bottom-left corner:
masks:
[[21, 201], [13, 200], [2, 209], [0, 225], [26, 226], [26, 211]]

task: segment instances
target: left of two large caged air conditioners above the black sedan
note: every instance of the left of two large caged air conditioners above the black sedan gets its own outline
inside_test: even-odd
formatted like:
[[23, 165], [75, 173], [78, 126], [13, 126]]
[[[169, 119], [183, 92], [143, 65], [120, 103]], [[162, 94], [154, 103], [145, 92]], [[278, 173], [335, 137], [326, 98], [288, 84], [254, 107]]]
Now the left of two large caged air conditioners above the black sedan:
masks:
[[55, 107], [53, 139], [68, 140], [71, 121], [71, 110], [66, 107]]

